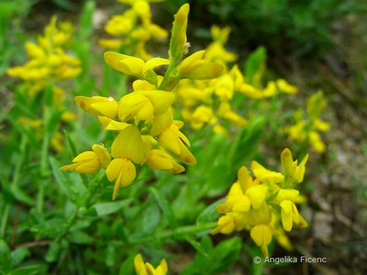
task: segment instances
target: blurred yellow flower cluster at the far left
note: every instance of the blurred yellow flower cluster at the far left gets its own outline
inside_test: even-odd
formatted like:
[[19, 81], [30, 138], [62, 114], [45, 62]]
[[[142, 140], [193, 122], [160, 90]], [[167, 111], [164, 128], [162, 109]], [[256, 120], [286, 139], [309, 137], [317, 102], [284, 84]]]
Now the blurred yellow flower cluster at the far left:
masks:
[[[69, 22], [61, 22], [56, 26], [56, 17], [52, 17], [49, 25], [45, 27], [43, 35], [37, 36], [37, 43], [25, 43], [25, 51], [30, 60], [23, 66], [10, 67], [7, 74], [12, 77], [21, 78], [21, 87], [27, 91], [29, 96], [35, 96], [40, 91], [51, 89], [52, 103], [60, 109], [61, 122], [70, 122], [75, 119], [74, 113], [64, 111], [63, 102], [65, 91], [55, 84], [57, 81], [75, 78], [81, 74], [81, 61], [78, 58], [65, 53], [72, 44], [72, 32], [74, 28]], [[48, 107], [41, 105], [43, 111]], [[45, 131], [41, 118], [27, 118], [21, 116], [19, 123], [36, 130], [35, 135], [40, 140]], [[59, 129], [61, 122], [56, 126]], [[50, 139], [50, 146], [56, 152], [64, 149], [63, 135], [56, 130]]]

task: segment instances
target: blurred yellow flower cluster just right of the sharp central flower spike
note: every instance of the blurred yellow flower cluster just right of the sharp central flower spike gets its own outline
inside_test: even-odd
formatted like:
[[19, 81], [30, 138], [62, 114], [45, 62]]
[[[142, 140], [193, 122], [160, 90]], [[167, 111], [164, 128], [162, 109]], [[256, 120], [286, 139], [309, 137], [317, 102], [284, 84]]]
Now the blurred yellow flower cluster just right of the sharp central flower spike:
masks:
[[[224, 65], [224, 74], [213, 80], [185, 80], [175, 89], [178, 102], [180, 102], [182, 118], [190, 122], [193, 129], [199, 130], [205, 125], [213, 126], [214, 133], [227, 133], [222, 126], [227, 121], [235, 126], [246, 126], [247, 120], [233, 110], [231, 100], [235, 93], [254, 99], [263, 99], [275, 96], [277, 91], [295, 94], [298, 88], [289, 85], [284, 79], [270, 81], [264, 89], [259, 85], [254, 86], [246, 79], [238, 65], [229, 69], [228, 63], [236, 61], [238, 56], [228, 52], [224, 44], [228, 41], [230, 29], [211, 28], [213, 43], [206, 51], [196, 53], [200, 59], [218, 62]], [[194, 58], [194, 57], [193, 57]], [[261, 72], [258, 72], [258, 78]]]

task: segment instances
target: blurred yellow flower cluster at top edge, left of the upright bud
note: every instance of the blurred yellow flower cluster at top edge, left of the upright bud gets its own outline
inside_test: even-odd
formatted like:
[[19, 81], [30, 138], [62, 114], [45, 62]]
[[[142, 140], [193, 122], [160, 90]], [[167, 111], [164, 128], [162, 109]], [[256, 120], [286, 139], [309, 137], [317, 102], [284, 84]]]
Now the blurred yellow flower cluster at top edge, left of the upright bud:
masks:
[[[145, 43], [152, 37], [165, 39], [168, 32], [151, 22], [151, 10], [147, 0], [118, 0], [132, 7], [123, 14], [114, 15], [105, 31], [112, 36], [123, 36], [121, 39], [99, 39], [98, 43], [107, 50], [120, 50], [147, 61], [151, 55], [145, 51]], [[156, 2], [156, 1], [155, 1]]]

